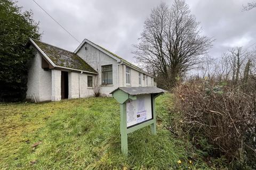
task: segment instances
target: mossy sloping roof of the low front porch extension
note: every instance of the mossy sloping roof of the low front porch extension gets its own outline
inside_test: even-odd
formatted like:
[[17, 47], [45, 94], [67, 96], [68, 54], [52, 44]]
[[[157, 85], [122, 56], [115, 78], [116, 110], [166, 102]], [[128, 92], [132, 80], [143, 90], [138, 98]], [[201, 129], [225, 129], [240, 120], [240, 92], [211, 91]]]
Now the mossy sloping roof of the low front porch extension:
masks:
[[75, 53], [39, 40], [29, 40], [53, 67], [97, 74], [97, 71]]

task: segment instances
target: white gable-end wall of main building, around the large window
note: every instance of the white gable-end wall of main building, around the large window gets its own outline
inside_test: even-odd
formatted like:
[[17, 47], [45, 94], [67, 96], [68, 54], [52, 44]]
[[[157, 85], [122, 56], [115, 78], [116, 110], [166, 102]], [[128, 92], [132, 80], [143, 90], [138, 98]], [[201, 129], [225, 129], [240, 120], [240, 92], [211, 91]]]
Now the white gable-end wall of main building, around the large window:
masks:
[[[86, 49], [85, 49], [86, 47]], [[102, 84], [101, 87], [101, 94], [106, 96], [111, 96], [109, 93], [111, 91], [114, 91], [118, 87], [117, 82], [117, 61], [106, 55], [105, 53], [102, 53], [99, 49], [91, 46], [90, 44], [84, 44], [81, 49], [78, 50], [77, 55], [81, 57], [86, 63], [91, 65], [94, 70], [99, 72], [98, 81], [99, 84], [102, 84], [102, 74], [101, 74], [101, 66], [102, 65], [112, 65], [113, 68], [113, 84]]]

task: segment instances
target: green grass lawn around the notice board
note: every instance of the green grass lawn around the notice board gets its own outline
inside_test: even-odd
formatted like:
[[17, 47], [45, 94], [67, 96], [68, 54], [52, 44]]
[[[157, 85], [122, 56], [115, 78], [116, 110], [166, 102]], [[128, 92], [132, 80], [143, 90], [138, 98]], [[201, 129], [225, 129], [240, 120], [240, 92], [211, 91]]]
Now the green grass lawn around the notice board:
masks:
[[189, 163], [187, 143], [166, 130], [167, 106], [170, 94], [157, 98], [157, 135], [149, 128], [129, 134], [124, 157], [114, 98], [0, 104], [0, 168], [209, 169], [202, 162]]

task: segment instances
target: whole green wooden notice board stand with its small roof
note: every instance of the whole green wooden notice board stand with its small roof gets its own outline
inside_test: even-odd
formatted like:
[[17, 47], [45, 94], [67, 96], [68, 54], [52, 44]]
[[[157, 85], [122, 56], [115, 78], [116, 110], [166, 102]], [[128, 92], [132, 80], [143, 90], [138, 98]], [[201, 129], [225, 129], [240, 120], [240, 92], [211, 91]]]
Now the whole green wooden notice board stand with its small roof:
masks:
[[145, 126], [156, 134], [155, 98], [164, 90], [156, 87], [119, 87], [110, 94], [120, 104], [121, 149], [128, 154], [127, 134]]

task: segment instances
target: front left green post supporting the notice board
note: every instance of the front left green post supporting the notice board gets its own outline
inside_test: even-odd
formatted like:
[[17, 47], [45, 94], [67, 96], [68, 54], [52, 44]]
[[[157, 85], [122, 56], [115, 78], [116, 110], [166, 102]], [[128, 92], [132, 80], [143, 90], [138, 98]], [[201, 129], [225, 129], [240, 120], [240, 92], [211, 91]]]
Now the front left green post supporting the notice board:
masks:
[[126, 123], [126, 103], [120, 104], [120, 132], [121, 150], [125, 156], [128, 154], [127, 123]]

